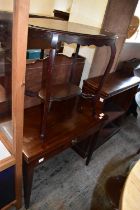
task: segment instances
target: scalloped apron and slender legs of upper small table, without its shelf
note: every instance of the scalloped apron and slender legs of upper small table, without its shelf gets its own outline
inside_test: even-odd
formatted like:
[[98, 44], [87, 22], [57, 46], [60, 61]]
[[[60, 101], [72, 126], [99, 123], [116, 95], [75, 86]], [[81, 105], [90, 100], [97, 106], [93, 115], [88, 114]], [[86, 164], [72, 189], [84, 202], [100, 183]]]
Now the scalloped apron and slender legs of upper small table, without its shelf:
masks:
[[[54, 21], [55, 22], [55, 21]], [[102, 86], [104, 85], [104, 81], [108, 75], [108, 73], [110, 72], [110, 69], [113, 65], [113, 61], [115, 58], [115, 54], [116, 54], [116, 47], [115, 47], [115, 36], [105, 36], [105, 35], [87, 35], [87, 34], [79, 34], [77, 32], [65, 32], [65, 28], [61, 29], [60, 26], [60, 30], [63, 31], [59, 31], [58, 29], [55, 29], [55, 31], [52, 32], [52, 28], [53, 25], [50, 26], [51, 28], [48, 29], [47, 25], [45, 26], [46, 28], [41, 29], [40, 31], [40, 27], [36, 27], [35, 30], [36, 32], [39, 32], [39, 34], [37, 33], [33, 33], [29, 36], [30, 39], [34, 39], [34, 38], [41, 38], [43, 37], [44, 39], [46, 39], [46, 41], [48, 41], [48, 43], [51, 44], [51, 50], [49, 53], [49, 57], [48, 57], [48, 65], [46, 66], [46, 61], [44, 60], [44, 65], [43, 65], [43, 73], [45, 75], [46, 72], [46, 83], [44, 85], [45, 88], [45, 97], [44, 99], [44, 111], [43, 111], [43, 117], [42, 117], [42, 126], [41, 126], [41, 137], [42, 138], [46, 138], [47, 135], [47, 115], [48, 115], [48, 111], [50, 109], [50, 98], [51, 98], [51, 90], [52, 90], [52, 72], [53, 72], [53, 67], [55, 64], [55, 57], [56, 57], [56, 53], [57, 53], [57, 49], [59, 46], [59, 43], [64, 42], [67, 44], [72, 44], [75, 43], [76, 44], [76, 50], [73, 56], [73, 62], [72, 62], [72, 67], [71, 67], [71, 73], [70, 73], [70, 80], [69, 83], [72, 84], [72, 78], [73, 78], [73, 73], [76, 71], [75, 69], [75, 63], [76, 63], [76, 58], [78, 57], [78, 53], [79, 53], [79, 49], [81, 46], [91, 46], [91, 45], [96, 45], [98, 47], [102, 47], [102, 46], [109, 46], [111, 49], [111, 54], [110, 54], [110, 59], [108, 62], [108, 65], [105, 69], [104, 75], [101, 78], [101, 81], [98, 85], [98, 89], [96, 92], [96, 97], [95, 97], [95, 106], [93, 108], [94, 112], [97, 114], [100, 114], [100, 109], [98, 109], [98, 106], [100, 106], [99, 102], [99, 98], [100, 98], [100, 90], [102, 89]], [[57, 28], [57, 27], [56, 27]], [[33, 28], [34, 29], [34, 28]], [[35, 32], [35, 31], [34, 31]], [[40, 37], [41, 36], [41, 37]], [[46, 68], [47, 67], [47, 68]], [[69, 89], [69, 87], [68, 87]], [[73, 88], [74, 90], [74, 88]], [[77, 92], [77, 91], [76, 91]], [[76, 95], [76, 94], [73, 94]], [[70, 96], [67, 96], [70, 97]], [[97, 102], [97, 103], [96, 103]], [[97, 106], [96, 106], [97, 105]], [[95, 114], [94, 113], [94, 114]]]

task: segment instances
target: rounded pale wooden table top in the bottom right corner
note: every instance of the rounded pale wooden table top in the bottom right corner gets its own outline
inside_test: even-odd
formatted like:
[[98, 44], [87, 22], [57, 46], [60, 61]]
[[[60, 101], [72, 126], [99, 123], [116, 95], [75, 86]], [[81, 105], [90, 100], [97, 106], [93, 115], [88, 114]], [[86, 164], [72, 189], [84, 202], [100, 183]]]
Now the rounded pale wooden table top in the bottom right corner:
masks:
[[140, 159], [130, 171], [124, 185], [120, 210], [140, 209]]

